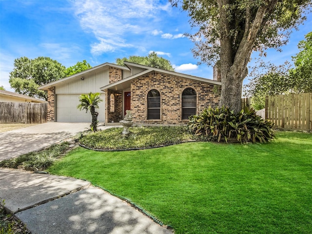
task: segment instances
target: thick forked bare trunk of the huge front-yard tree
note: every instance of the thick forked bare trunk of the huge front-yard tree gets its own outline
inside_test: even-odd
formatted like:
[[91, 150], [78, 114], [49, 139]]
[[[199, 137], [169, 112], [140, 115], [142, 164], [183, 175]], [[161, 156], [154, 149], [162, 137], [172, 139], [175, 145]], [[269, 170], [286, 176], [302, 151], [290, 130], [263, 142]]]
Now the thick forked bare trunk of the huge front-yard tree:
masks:
[[246, 8], [246, 25], [244, 36], [237, 51], [233, 51], [230, 38], [230, 25], [226, 6], [229, 0], [217, 0], [220, 13], [220, 72], [221, 97], [219, 105], [234, 110], [237, 114], [241, 110], [242, 83], [248, 74], [247, 64], [254, 48], [257, 33], [263, 22], [266, 12], [270, 12], [277, 0], [267, 0], [257, 9], [254, 19], [250, 19], [250, 9]]

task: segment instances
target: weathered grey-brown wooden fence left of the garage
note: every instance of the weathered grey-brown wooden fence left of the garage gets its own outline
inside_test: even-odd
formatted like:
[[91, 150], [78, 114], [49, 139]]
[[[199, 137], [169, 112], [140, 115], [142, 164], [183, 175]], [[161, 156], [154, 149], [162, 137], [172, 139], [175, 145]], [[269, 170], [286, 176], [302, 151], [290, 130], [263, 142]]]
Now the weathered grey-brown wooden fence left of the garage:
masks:
[[46, 123], [47, 103], [0, 102], [1, 123]]

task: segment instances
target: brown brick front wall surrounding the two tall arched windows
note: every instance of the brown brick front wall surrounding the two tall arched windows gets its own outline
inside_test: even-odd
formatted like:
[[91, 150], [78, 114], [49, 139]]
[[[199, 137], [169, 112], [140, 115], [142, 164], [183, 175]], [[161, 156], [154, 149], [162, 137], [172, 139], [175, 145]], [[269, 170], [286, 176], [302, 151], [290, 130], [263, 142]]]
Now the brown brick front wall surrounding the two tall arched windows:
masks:
[[[218, 105], [220, 86], [171, 75], [152, 73], [131, 83], [131, 110], [136, 123], [185, 123], [182, 120], [182, 92], [191, 87], [197, 94], [197, 110], [200, 113], [209, 106]], [[160, 121], [147, 120], [147, 94], [156, 89], [160, 93]]]

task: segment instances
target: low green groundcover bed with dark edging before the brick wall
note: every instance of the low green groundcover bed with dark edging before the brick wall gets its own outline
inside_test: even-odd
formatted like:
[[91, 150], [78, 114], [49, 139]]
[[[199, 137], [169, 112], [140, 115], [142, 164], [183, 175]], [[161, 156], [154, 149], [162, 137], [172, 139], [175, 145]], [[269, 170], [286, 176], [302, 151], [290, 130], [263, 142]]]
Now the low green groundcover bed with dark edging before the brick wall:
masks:
[[123, 136], [122, 128], [89, 133], [79, 143], [92, 149], [137, 149], [159, 145], [176, 144], [198, 139], [187, 131], [186, 126], [132, 127], [130, 134]]

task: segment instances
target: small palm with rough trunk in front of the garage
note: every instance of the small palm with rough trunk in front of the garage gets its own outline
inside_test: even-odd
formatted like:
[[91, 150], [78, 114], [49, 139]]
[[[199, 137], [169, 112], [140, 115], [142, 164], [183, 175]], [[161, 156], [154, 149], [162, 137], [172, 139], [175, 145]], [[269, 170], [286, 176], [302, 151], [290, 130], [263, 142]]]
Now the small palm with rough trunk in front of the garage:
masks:
[[92, 93], [90, 94], [81, 94], [79, 97], [80, 104], [77, 106], [77, 108], [81, 111], [86, 110], [86, 113], [88, 110], [90, 110], [91, 116], [92, 116], [92, 123], [90, 125], [91, 131], [97, 131], [98, 126], [98, 112], [96, 112], [96, 108], [98, 108], [98, 103], [103, 101], [100, 98], [99, 93]]

